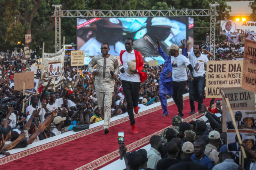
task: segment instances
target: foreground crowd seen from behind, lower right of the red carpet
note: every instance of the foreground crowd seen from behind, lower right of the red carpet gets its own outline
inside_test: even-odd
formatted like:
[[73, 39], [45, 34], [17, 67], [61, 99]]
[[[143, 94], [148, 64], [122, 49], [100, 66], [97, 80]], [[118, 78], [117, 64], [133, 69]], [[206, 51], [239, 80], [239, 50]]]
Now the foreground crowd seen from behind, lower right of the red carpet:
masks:
[[[179, 115], [172, 118], [172, 128], [161, 135], [150, 138], [149, 151], [140, 149], [127, 152], [125, 144], [120, 146], [128, 170], [240, 170], [239, 151], [244, 148], [246, 159], [244, 170], [256, 168], [255, 141], [253, 144], [243, 140], [239, 144], [237, 136], [234, 143], [228, 143], [227, 133], [222, 130], [222, 106], [211, 100], [209, 108], [203, 104], [205, 119], [183, 122]], [[240, 116], [241, 117], [241, 116]], [[239, 122], [239, 116], [236, 121]], [[209, 123], [209, 128], [207, 128]], [[256, 132], [254, 133], [256, 136]], [[242, 139], [242, 136], [240, 134]], [[241, 160], [241, 155], [240, 155]]]

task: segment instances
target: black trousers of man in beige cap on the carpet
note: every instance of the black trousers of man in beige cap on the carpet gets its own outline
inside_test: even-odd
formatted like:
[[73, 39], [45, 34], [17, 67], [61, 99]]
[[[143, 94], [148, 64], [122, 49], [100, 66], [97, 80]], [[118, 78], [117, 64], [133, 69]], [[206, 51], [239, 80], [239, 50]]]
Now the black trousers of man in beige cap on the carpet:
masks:
[[173, 81], [173, 100], [178, 108], [179, 115], [183, 116], [183, 93], [186, 81]]

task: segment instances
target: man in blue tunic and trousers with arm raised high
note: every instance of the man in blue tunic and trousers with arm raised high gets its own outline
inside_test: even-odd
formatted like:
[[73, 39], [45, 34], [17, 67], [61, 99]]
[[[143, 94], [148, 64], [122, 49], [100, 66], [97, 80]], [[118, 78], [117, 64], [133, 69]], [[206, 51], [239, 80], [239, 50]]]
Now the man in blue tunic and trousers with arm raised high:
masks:
[[[172, 96], [173, 95], [173, 78], [172, 78], [172, 71], [173, 71], [173, 67], [172, 67], [172, 62], [171, 62], [171, 58], [169, 57], [170, 55], [170, 51], [169, 54], [166, 55], [163, 52], [163, 49], [160, 46], [160, 42], [159, 42], [159, 38], [156, 36], [156, 42], [158, 45], [158, 51], [159, 54], [163, 57], [164, 59], [164, 65], [163, 65], [163, 71], [160, 74], [160, 80], [159, 80], [159, 88], [160, 88], [160, 94], [159, 94], [159, 98], [160, 98], [160, 102], [163, 108], [163, 115], [161, 116], [168, 116], [168, 110], [167, 110], [167, 99], [166, 99], [166, 94]], [[183, 39], [183, 41], [181, 41], [182, 45], [183, 45], [183, 54], [184, 56], [187, 55], [187, 48], [185, 48], [185, 42], [186, 40]]]

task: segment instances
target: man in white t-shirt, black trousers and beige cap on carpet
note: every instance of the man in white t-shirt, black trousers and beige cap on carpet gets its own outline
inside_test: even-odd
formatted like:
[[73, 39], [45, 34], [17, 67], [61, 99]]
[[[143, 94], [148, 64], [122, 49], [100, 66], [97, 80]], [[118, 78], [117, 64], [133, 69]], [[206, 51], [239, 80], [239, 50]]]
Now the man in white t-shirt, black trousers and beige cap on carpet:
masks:
[[169, 56], [171, 56], [173, 66], [173, 100], [178, 107], [179, 116], [183, 117], [183, 93], [186, 88], [187, 74], [186, 67], [188, 67], [193, 74], [193, 67], [190, 61], [184, 56], [179, 54], [179, 47], [176, 44], [172, 44], [169, 48]]

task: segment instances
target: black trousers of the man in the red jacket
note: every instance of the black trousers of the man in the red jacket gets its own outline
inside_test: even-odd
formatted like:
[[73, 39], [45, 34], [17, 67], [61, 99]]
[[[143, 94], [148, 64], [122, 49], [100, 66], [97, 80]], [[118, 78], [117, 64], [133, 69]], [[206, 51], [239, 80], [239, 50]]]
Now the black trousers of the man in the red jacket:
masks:
[[138, 106], [140, 97], [140, 82], [131, 82], [122, 80], [123, 93], [127, 102], [127, 112], [131, 125], [135, 124], [133, 107]]

